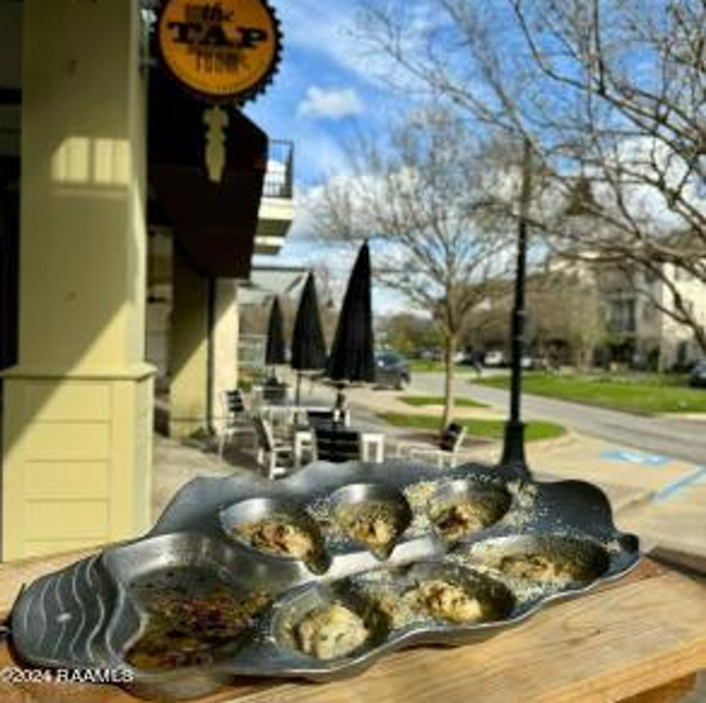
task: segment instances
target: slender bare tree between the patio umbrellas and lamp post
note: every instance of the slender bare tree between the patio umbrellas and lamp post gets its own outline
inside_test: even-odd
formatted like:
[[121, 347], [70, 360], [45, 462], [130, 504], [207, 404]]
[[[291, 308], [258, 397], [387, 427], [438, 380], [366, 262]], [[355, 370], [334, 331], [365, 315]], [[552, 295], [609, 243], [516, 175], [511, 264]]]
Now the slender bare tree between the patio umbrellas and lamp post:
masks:
[[438, 106], [420, 107], [389, 135], [353, 144], [353, 175], [329, 180], [315, 212], [323, 237], [376, 240], [378, 281], [442, 328], [443, 426], [453, 417], [458, 334], [483, 298], [483, 283], [503, 267], [504, 240], [476, 222], [469, 178], [476, 153], [459, 119]]

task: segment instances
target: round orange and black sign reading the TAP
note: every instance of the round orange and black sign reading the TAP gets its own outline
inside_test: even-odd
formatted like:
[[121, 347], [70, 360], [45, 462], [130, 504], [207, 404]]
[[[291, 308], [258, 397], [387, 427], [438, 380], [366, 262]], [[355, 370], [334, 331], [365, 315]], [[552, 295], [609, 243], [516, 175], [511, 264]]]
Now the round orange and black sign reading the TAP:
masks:
[[265, 0], [167, 0], [157, 41], [164, 63], [188, 89], [244, 102], [275, 74], [281, 33]]

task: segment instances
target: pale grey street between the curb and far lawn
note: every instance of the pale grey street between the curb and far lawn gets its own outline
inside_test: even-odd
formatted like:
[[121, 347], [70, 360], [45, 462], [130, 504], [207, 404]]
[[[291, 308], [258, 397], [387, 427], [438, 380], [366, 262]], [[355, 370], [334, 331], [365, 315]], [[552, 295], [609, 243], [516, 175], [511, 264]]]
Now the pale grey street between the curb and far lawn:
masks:
[[[507, 408], [506, 391], [475, 385], [467, 379], [457, 379], [455, 388], [458, 397], [472, 398], [501, 410]], [[443, 375], [417, 373], [411, 392], [442, 395]], [[527, 419], [550, 420], [620, 446], [706, 464], [706, 422], [644, 418], [531, 395], [524, 396], [522, 410]]]

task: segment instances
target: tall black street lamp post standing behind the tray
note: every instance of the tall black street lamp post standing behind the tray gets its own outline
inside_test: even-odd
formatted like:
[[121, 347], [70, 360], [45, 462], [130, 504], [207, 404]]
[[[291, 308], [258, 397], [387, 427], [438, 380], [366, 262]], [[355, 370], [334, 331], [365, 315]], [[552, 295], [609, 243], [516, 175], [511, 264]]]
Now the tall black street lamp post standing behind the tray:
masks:
[[531, 199], [532, 145], [525, 138], [522, 153], [522, 183], [517, 227], [517, 269], [515, 274], [515, 303], [512, 314], [512, 376], [509, 391], [509, 418], [505, 423], [503, 445], [504, 464], [527, 465], [525, 458], [525, 423], [521, 420], [522, 356], [525, 353], [525, 289], [527, 278], [527, 229]]

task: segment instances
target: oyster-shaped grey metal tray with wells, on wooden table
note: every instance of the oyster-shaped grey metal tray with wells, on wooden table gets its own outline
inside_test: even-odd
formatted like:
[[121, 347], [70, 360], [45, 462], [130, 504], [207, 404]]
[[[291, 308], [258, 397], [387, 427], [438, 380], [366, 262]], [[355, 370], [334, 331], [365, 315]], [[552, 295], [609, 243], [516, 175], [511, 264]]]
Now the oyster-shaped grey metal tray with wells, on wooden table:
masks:
[[[434, 523], [433, 507], [462, 498], [486, 501], [493, 519], [450, 540]], [[366, 501], [398, 510], [400, 534], [384, 554], [371, 552], [336, 523], [342, 506]], [[314, 559], [267, 554], [231, 534], [240, 523], [282, 514], [315, 536]], [[584, 575], [538, 585], [499, 568], [504, 558], [524, 553], [566, 557]], [[639, 559], [638, 538], [615, 527], [606, 496], [584, 482], [541, 483], [522, 469], [476, 463], [439, 470], [408, 461], [317, 462], [280, 482], [257, 476], [192, 481], [144, 537], [25, 588], [11, 629], [16, 652], [29, 664], [119, 667], [129, 669], [127, 686], [138, 695], [188, 699], [234, 676], [330, 680], [412, 644], [480, 641], [550, 602], [626, 574]], [[380, 589], [403, 592], [439, 578], [467, 585], [494, 616], [478, 624], [431, 616], [398, 622], [396, 615], [382, 617], [375, 610]], [[272, 604], [231, 651], [214, 661], [160, 670], [130, 666], [126, 652], [149, 619], [146, 589], [172, 586], [199, 593], [212, 583], [241, 595], [265, 589]], [[368, 619], [374, 613], [370, 637], [345, 656], [317, 659], [298, 648], [292, 624], [330, 602], [364, 609], [360, 612]]]

